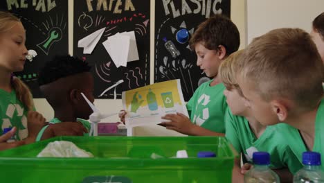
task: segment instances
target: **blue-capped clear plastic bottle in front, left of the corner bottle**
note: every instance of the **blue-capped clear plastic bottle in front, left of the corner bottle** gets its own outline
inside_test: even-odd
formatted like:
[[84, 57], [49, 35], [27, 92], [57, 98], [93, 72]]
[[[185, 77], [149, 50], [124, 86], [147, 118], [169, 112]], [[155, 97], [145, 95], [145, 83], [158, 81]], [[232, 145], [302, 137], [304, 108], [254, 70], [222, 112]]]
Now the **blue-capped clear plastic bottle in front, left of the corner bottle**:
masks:
[[270, 155], [267, 152], [253, 153], [253, 168], [245, 173], [245, 183], [276, 183], [280, 182], [278, 175], [269, 168]]

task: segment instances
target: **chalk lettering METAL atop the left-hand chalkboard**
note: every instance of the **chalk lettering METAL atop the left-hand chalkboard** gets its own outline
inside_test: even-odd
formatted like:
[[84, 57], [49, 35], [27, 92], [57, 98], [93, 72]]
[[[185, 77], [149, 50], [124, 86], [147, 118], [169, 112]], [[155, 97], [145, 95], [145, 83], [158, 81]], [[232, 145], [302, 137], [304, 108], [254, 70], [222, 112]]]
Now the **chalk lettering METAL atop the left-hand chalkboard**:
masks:
[[[12, 6], [15, 6], [15, 8], [28, 8], [28, 3], [26, 3], [26, 0], [20, 0], [20, 3], [18, 2], [19, 0], [7, 0], [8, 10], [12, 10]], [[42, 12], [46, 12], [45, 0], [33, 0], [33, 6], [35, 6], [35, 10], [37, 11], [39, 11], [40, 8], [42, 8]], [[55, 8], [55, 6], [55, 1], [47, 0], [47, 12]]]

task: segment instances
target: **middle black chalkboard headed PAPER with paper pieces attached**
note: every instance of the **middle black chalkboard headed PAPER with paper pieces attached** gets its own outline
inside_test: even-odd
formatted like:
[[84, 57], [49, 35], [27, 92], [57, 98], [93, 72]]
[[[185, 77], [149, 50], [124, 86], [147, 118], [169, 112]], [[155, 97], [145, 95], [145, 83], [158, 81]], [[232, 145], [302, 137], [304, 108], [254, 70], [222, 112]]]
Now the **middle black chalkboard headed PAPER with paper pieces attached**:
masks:
[[[73, 53], [92, 67], [94, 96], [121, 98], [123, 91], [150, 85], [150, 0], [78, 0], [74, 3]], [[78, 42], [102, 28], [105, 31], [96, 47], [90, 54], [84, 53]], [[117, 67], [102, 43], [110, 36], [132, 31], [136, 37], [138, 60], [127, 62], [127, 67]], [[117, 44], [110, 46], [119, 46]], [[127, 54], [124, 49], [118, 51], [118, 55]], [[119, 80], [124, 82], [119, 83]], [[105, 92], [109, 87], [112, 88]]]

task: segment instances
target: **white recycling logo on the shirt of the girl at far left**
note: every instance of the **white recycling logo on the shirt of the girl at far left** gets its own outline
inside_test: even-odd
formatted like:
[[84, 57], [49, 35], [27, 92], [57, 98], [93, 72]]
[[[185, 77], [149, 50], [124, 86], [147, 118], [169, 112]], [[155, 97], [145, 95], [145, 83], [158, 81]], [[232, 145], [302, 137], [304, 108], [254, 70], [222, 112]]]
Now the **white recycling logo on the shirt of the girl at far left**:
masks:
[[9, 104], [6, 110], [6, 116], [0, 121], [1, 130], [4, 128], [17, 127], [17, 139], [25, 139], [28, 135], [27, 118], [24, 115], [24, 107], [19, 104]]

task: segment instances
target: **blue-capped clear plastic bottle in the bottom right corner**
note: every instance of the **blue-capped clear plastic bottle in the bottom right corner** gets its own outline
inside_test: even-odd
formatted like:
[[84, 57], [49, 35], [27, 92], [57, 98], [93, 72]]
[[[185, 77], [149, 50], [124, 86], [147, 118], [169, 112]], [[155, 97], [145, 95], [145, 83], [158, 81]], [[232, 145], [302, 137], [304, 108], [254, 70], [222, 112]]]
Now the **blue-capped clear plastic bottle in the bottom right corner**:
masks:
[[299, 182], [324, 182], [323, 171], [321, 171], [321, 154], [316, 152], [303, 153], [304, 168], [294, 175], [294, 183]]

